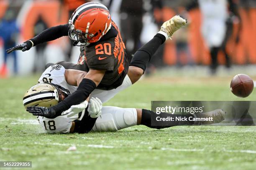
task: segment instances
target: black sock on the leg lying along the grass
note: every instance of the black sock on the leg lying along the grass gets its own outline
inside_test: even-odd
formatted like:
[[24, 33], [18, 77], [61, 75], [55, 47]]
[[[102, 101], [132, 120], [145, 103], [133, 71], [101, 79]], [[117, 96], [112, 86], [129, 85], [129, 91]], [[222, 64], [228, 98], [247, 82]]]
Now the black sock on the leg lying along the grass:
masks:
[[[152, 112], [151, 110], [146, 110], [142, 109], [142, 115], [141, 115], [141, 125], [145, 125], [148, 128], [155, 128], [155, 129], [162, 129], [162, 128], [169, 128], [172, 126], [179, 126], [179, 125], [194, 125], [195, 121], [189, 121], [189, 117], [194, 117], [192, 114], [187, 114], [187, 115], [180, 115], [180, 114], [169, 114], [165, 112], [161, 112], [159, 117], [164, 118], [164, 117], [173, 117], [174, 121], [166, 121], [166, 122], [159, 122], [159, 125], [151, 125], [151, 116], [156, 115], [155, 112]], [[175, 121], [176, 117], [185, 117], [187, 118], [187, 121]]]

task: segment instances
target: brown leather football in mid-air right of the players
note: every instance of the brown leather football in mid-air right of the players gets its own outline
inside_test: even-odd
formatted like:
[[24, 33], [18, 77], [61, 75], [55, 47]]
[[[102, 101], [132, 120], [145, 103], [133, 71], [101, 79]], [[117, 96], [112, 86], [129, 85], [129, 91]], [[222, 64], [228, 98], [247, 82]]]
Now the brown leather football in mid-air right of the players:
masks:
[[253, 80], [246, 74], [235, 75], [230, 83], [231, 92], [238, 97], [248, 97], [253, 87]]

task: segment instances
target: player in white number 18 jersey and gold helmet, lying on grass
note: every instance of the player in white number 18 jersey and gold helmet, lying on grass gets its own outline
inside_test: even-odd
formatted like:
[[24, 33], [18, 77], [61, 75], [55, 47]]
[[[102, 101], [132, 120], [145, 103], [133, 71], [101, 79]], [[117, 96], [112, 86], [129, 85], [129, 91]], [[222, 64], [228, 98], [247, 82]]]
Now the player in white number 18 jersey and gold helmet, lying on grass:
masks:
[[[56, 105], [76, 90], [76, 85], [79, 84], [80, 77], [83, 77], [84, 74], [86, 72], [79, 70], [65, 70], [61, 65], [48, 67], [39, 78], [39, 84], [34, 85], [25, 93], [23, 105], [25, 107], [35, 105], [51, 107]], [[124, 81], [120, 90], [128, 86], [128, 82]], [[224, 120], [224, 111], [220, 109], [194, 115], [171, 115], [161, 112], [160, 117], [213, 117], [213, 121], [174, 121], [170, 125], [153, 126], [151, 125], [151, 114], [155, 113], [151, 110], [102, 107], [101, 100], [103, 102], [110, 100], [117, 93], [116, 90], [114, 92], [111, 92], [111, 90], [93, 91], [88, 107], [88, 102], [84, 101], [79, 105], [73, 105], [69, 110], [64, 111], [61, 116], [55, 118], [38, 116], [38, 121], [48, 133], [87, 133], [91, 129], [92, 131], [116, 131], [134, 125], [146, 125], [149, 128], [161, 129], [176, 125], [218, 123]], [[99, 117], [100, 115], [101, 117]]]

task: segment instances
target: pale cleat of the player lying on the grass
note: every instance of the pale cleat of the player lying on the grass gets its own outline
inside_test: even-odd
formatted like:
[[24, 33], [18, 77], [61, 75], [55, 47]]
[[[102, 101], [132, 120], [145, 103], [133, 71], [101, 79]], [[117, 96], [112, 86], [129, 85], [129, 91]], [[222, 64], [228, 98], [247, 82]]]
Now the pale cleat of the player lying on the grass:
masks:
[[[212, 110], [210, 112], [205, 112], [205, 113], [195, 113], [194, 114], [194, 117], [196, 118], [195, 125], [210, 125], [210, 124], [219, 123], [225, 119], [224, 116], [225, 116], [225, 111], [221, 109], [216, 109], [216, 110]], [[200, 118], [200, 120], [197, 120], [197, 118]]]

